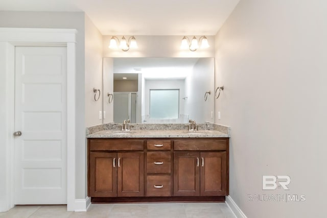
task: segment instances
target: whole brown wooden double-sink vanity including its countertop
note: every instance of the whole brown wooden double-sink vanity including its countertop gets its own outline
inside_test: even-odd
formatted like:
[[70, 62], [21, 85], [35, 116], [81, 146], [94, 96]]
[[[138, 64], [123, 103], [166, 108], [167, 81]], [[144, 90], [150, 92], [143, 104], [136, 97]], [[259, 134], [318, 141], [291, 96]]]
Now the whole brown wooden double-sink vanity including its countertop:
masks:
[[102, 130], [87, 137], [93, 203], [224, 202], [228, 195], [228, 133]]

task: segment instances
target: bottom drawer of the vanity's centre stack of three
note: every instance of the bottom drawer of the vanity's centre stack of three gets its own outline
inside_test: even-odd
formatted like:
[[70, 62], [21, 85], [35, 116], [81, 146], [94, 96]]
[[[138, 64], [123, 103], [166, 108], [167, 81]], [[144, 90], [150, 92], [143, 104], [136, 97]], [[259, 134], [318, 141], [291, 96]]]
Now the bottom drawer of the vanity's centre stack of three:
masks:
[[170, 176], [147, 176], [147, 196], [171, 196]]

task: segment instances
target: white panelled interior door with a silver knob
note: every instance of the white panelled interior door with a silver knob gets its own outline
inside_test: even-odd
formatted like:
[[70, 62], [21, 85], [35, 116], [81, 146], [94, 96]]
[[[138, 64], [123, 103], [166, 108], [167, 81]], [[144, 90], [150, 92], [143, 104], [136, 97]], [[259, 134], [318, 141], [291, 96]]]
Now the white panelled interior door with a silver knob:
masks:
[[66, 47], [15, 48], [15, 204], [66, 204]]

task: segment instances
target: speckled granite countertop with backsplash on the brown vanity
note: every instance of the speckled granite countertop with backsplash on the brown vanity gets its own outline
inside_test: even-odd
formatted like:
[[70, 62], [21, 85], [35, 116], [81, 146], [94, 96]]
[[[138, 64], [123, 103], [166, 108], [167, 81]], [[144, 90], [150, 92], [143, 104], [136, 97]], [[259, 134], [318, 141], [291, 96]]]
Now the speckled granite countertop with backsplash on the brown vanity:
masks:
[[[131, 125], [130, 131], [120, 130], [119, 126], [106, 124], [87, 129], [87, 138], [219, 138], [230, 137], [230, 128], [221, 125], [201, 126], [199, 130], [188, 131], [173, 126]], [[183, 125], [184, 127], [184, 125]]]

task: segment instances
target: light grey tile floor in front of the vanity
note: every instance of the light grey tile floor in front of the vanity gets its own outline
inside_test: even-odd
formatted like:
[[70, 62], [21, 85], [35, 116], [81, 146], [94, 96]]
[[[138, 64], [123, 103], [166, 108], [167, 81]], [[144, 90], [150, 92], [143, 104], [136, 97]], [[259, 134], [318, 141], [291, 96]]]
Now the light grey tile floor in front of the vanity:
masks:
[[0, 218], [236, 218], [225, 203], [92, 204], [87, 212], [67, 212], [66, 205], [20, 205]]

